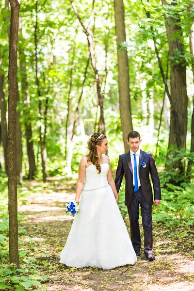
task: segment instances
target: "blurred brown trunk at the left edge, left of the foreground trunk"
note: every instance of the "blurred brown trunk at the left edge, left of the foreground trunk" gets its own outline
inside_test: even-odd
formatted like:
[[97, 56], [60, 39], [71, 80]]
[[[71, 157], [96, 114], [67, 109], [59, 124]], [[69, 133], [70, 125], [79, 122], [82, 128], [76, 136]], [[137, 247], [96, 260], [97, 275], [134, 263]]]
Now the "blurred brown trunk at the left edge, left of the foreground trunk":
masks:
[[3, 91], [4, 76], [0, 75], [0, 117], [1, 117], [1, 139], [3, 144], [3, 153], [5, 161], [5, 173], [8, 174], [7, 167], [7, 120], [6, 120], [6, 102]]

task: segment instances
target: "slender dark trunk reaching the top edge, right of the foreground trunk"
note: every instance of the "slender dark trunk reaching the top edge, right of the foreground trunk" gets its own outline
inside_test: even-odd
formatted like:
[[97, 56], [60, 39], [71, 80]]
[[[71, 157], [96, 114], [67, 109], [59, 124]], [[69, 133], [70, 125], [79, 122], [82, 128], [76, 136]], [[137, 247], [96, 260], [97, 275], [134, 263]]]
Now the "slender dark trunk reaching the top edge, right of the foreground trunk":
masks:
[[[36, 22], [35, 22], [35, 29], [34, 29], [34, 41], [35, 41], [35, 69], [36, 69], [36, 86], [37, 86], [37, 93], [39, 97], [38, 101], [38, 109], [40, 114], [40, 119], [43, 117], [43, 110], [42, 110], [42, 101], [41, 101], [41, 92], [40, 92], [40, 84], [38, 79], [38, 39], [37, 39], [37, 30], [38, 30], [38, 0], [36, 0]], [[46, 173], [46, 147], [44, 146], [44, 139], [42, 138], [42, 126], [39, 128], [39, 138], [40, 138], [40, 151], [41, 151], [41, 162], [42, 162], [42, 173], [43, 173], [43, 181], [46, 182], [47, 180], [47, 173]]]

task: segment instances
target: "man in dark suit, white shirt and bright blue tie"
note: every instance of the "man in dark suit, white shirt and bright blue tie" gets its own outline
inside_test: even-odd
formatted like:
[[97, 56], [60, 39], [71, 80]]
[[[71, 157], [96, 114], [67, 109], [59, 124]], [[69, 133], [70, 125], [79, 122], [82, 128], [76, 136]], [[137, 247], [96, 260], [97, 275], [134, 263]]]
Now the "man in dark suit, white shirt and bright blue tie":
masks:
[[[151, 153], [140, 150], [142, 140], [139, 132], [131, 131], [127, 143], [128, 153], [120, 155], [116, 169], [116, 190], [119, 192], [123, 175], [125, 174], [125, 205], [128, 207], [130, 220], [131, 242], [135, 253], [140, 256], [141, 237], [139, 229], [139, 204], [141, 207], [142, 224], [144, 228], [144, 253], [149, 261], [155, 259], [152, 248], [152, 205], [161, 202], [161, 186], [155, 161]], [[154, 202], [149, 179], [152, 178]]]

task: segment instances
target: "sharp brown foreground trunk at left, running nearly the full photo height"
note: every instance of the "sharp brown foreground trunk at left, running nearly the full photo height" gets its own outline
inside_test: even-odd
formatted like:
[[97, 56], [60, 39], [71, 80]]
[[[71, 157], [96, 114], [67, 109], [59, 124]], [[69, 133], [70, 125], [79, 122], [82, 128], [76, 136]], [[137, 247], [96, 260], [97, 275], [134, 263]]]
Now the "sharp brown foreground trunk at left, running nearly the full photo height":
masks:
[[9, 0], [11, 5], [9, 45], [9, 97], [8, 97], [8, 191], [9, 191], [9, 255], [10, 264], [19, 268], [18, 225], [17, 225], [17, 177], [16, 177], [16, 99], [17, 99], [17, 37], [20, 5]]

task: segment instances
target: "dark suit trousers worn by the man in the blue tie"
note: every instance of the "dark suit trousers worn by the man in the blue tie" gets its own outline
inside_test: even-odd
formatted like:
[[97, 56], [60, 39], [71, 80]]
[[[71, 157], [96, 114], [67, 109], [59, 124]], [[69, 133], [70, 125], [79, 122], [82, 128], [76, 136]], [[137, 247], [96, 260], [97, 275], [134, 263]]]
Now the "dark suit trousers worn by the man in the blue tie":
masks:
[[141, 237], [139, 228], [139, 204], [141, 206], [142, 224], [144, 229], [144, 253], [147, 257], [148, 253], [153, 254], [153, 237], [152, 237], [152, 207], [149, 205], [142, 193], [141, 189], [134, 192], [128, 213], [130, 219], [130, 237], [135, 251], [141, 248]]

